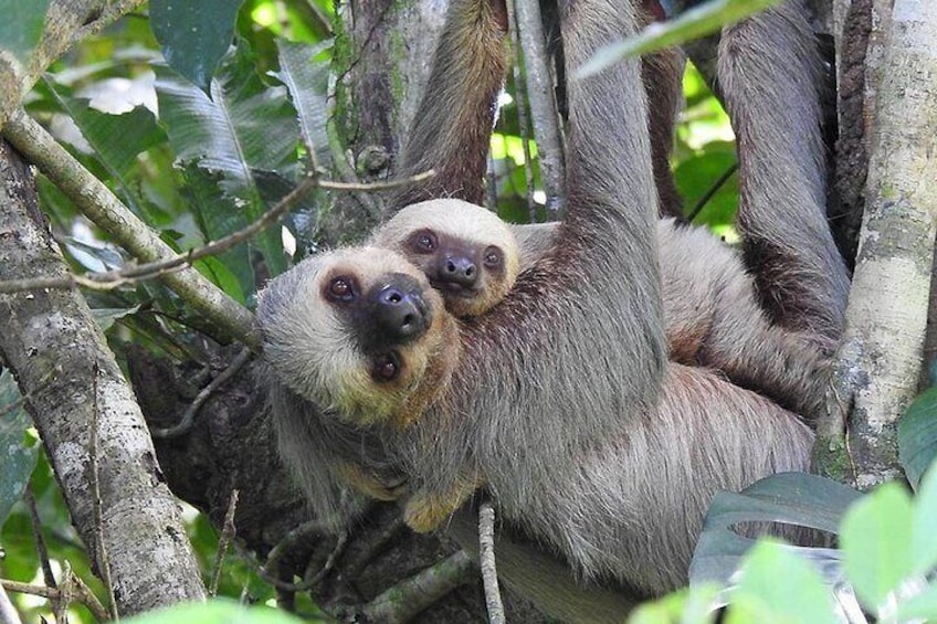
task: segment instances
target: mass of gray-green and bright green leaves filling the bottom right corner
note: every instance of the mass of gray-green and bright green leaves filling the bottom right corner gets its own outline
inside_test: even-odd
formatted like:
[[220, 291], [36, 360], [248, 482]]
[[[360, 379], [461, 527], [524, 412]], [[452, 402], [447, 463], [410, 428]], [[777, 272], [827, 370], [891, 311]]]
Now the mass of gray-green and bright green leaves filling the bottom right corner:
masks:
[[[926, 473], [915, 498], [897, 483], [860, 497], [829, 479], [791, 477], [717, 495], [694, 556], [693, 589], [643, 605], [630, 622], [713, 622], [726, 604], [729, 623], [840, 622], [844, 612], [861, 616], [860, 604], [882, 621], [937, 618], [937, 470]], [[725, 535], [738, 522], [769, 519], [833, 530], [840, 549], [771, 540], [752, 547]]]

